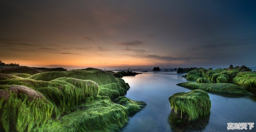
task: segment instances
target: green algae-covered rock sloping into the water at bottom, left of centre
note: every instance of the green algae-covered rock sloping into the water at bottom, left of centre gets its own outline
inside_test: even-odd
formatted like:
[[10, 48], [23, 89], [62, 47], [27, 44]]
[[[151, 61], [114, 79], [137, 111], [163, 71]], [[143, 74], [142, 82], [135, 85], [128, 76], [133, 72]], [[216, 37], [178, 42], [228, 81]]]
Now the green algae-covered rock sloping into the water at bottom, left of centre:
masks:
[[47, 122], [46, 127], [40, 128], [39, 131], [119, 131], [128, 123], [128, 116], [133, 110], [143, 107], [128, 98], [119, 97], [119, 99], [126, 105], [113, 103], [109, 97], [99, 96], [96, 99], [88, 97], [86, 103], [81, 105], [81, 109], [61, 117], [60, 120]]

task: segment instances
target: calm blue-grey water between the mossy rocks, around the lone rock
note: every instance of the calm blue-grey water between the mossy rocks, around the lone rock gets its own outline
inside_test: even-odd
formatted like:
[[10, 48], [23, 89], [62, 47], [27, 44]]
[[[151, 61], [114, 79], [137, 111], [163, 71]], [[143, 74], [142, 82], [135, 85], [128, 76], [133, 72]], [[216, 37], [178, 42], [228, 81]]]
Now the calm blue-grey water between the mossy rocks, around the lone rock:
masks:
[[[136, 71], [137, 72], [137, 71]], [[123, 132], [170, 132], [170, 131], [205, 131], [221, 132], [227, 130], [227, 123], [256, 122], [256, 99], [246, 97], [224, 97], [210, 94], [212, 102], [210, 117], [206, 121], [196, 122], [190, 126], [177, 127], [168, 122], [172, 119], [171, 107], [168, 97], [178, 92], [188, 92], [189, 89], [177, 86], [177, 83], [186, 82], [181, 77], [184, 74], [173, 72], [147, 72], [136, 76], [123, 77], [128, 82], [130, 89], [125, 95], [133, 100], [146, 102], [148, 105], [130, 117]], [[253, 101], [254, 100], [254, 101]], [[203, 119], [202, 119], [203, 120]], [[198, 124], [200, 126], [198, 126]], [[255, 125], [254, 125], [255, 126]], [[256, 127], [249, 130], [256, 131]]]

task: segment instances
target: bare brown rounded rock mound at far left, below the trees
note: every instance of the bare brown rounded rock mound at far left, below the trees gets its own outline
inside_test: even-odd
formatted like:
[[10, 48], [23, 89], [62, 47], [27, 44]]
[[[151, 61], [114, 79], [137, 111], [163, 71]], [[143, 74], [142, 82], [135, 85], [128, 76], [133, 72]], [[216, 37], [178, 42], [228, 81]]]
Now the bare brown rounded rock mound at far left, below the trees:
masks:
[[41, 73], [39, 70], [28, 66], [16, 66], [16, 67], [7, 67], [0, 69], [1, 73], [11, 74], [11, 73], [26, 73], [26, 74], [38, 74]]

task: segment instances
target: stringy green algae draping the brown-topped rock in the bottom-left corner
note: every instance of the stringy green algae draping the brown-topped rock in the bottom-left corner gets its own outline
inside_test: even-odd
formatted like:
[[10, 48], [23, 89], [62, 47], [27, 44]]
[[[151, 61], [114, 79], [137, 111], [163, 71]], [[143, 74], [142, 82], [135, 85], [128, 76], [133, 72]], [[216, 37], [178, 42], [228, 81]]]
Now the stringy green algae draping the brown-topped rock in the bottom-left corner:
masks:
[[[11, 86], [0, 85], [0, 92], [8, 91], [6, 101], [1, 98], [1, 126], [0, 129], [9, 131], [31, 131], [33, 128], [43, 127], [52, 116], [53, 105], [46, 98], [28, 97], [26, 94], [16, 94], [8, 90]], [[16, 87], [16, 86], [15, 86]], [[40, 108], [40, 109], [39, 109]]]

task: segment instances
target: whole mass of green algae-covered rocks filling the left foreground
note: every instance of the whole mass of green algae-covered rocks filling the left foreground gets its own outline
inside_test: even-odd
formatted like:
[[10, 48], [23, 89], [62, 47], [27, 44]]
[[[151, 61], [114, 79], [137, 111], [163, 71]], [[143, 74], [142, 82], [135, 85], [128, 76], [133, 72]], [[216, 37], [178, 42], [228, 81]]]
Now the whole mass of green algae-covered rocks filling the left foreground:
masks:
[[146, 105], [118, 97], [129, 84], [99, 69], [40, 74], [0, 74], [0, 131], [118, 131]]

